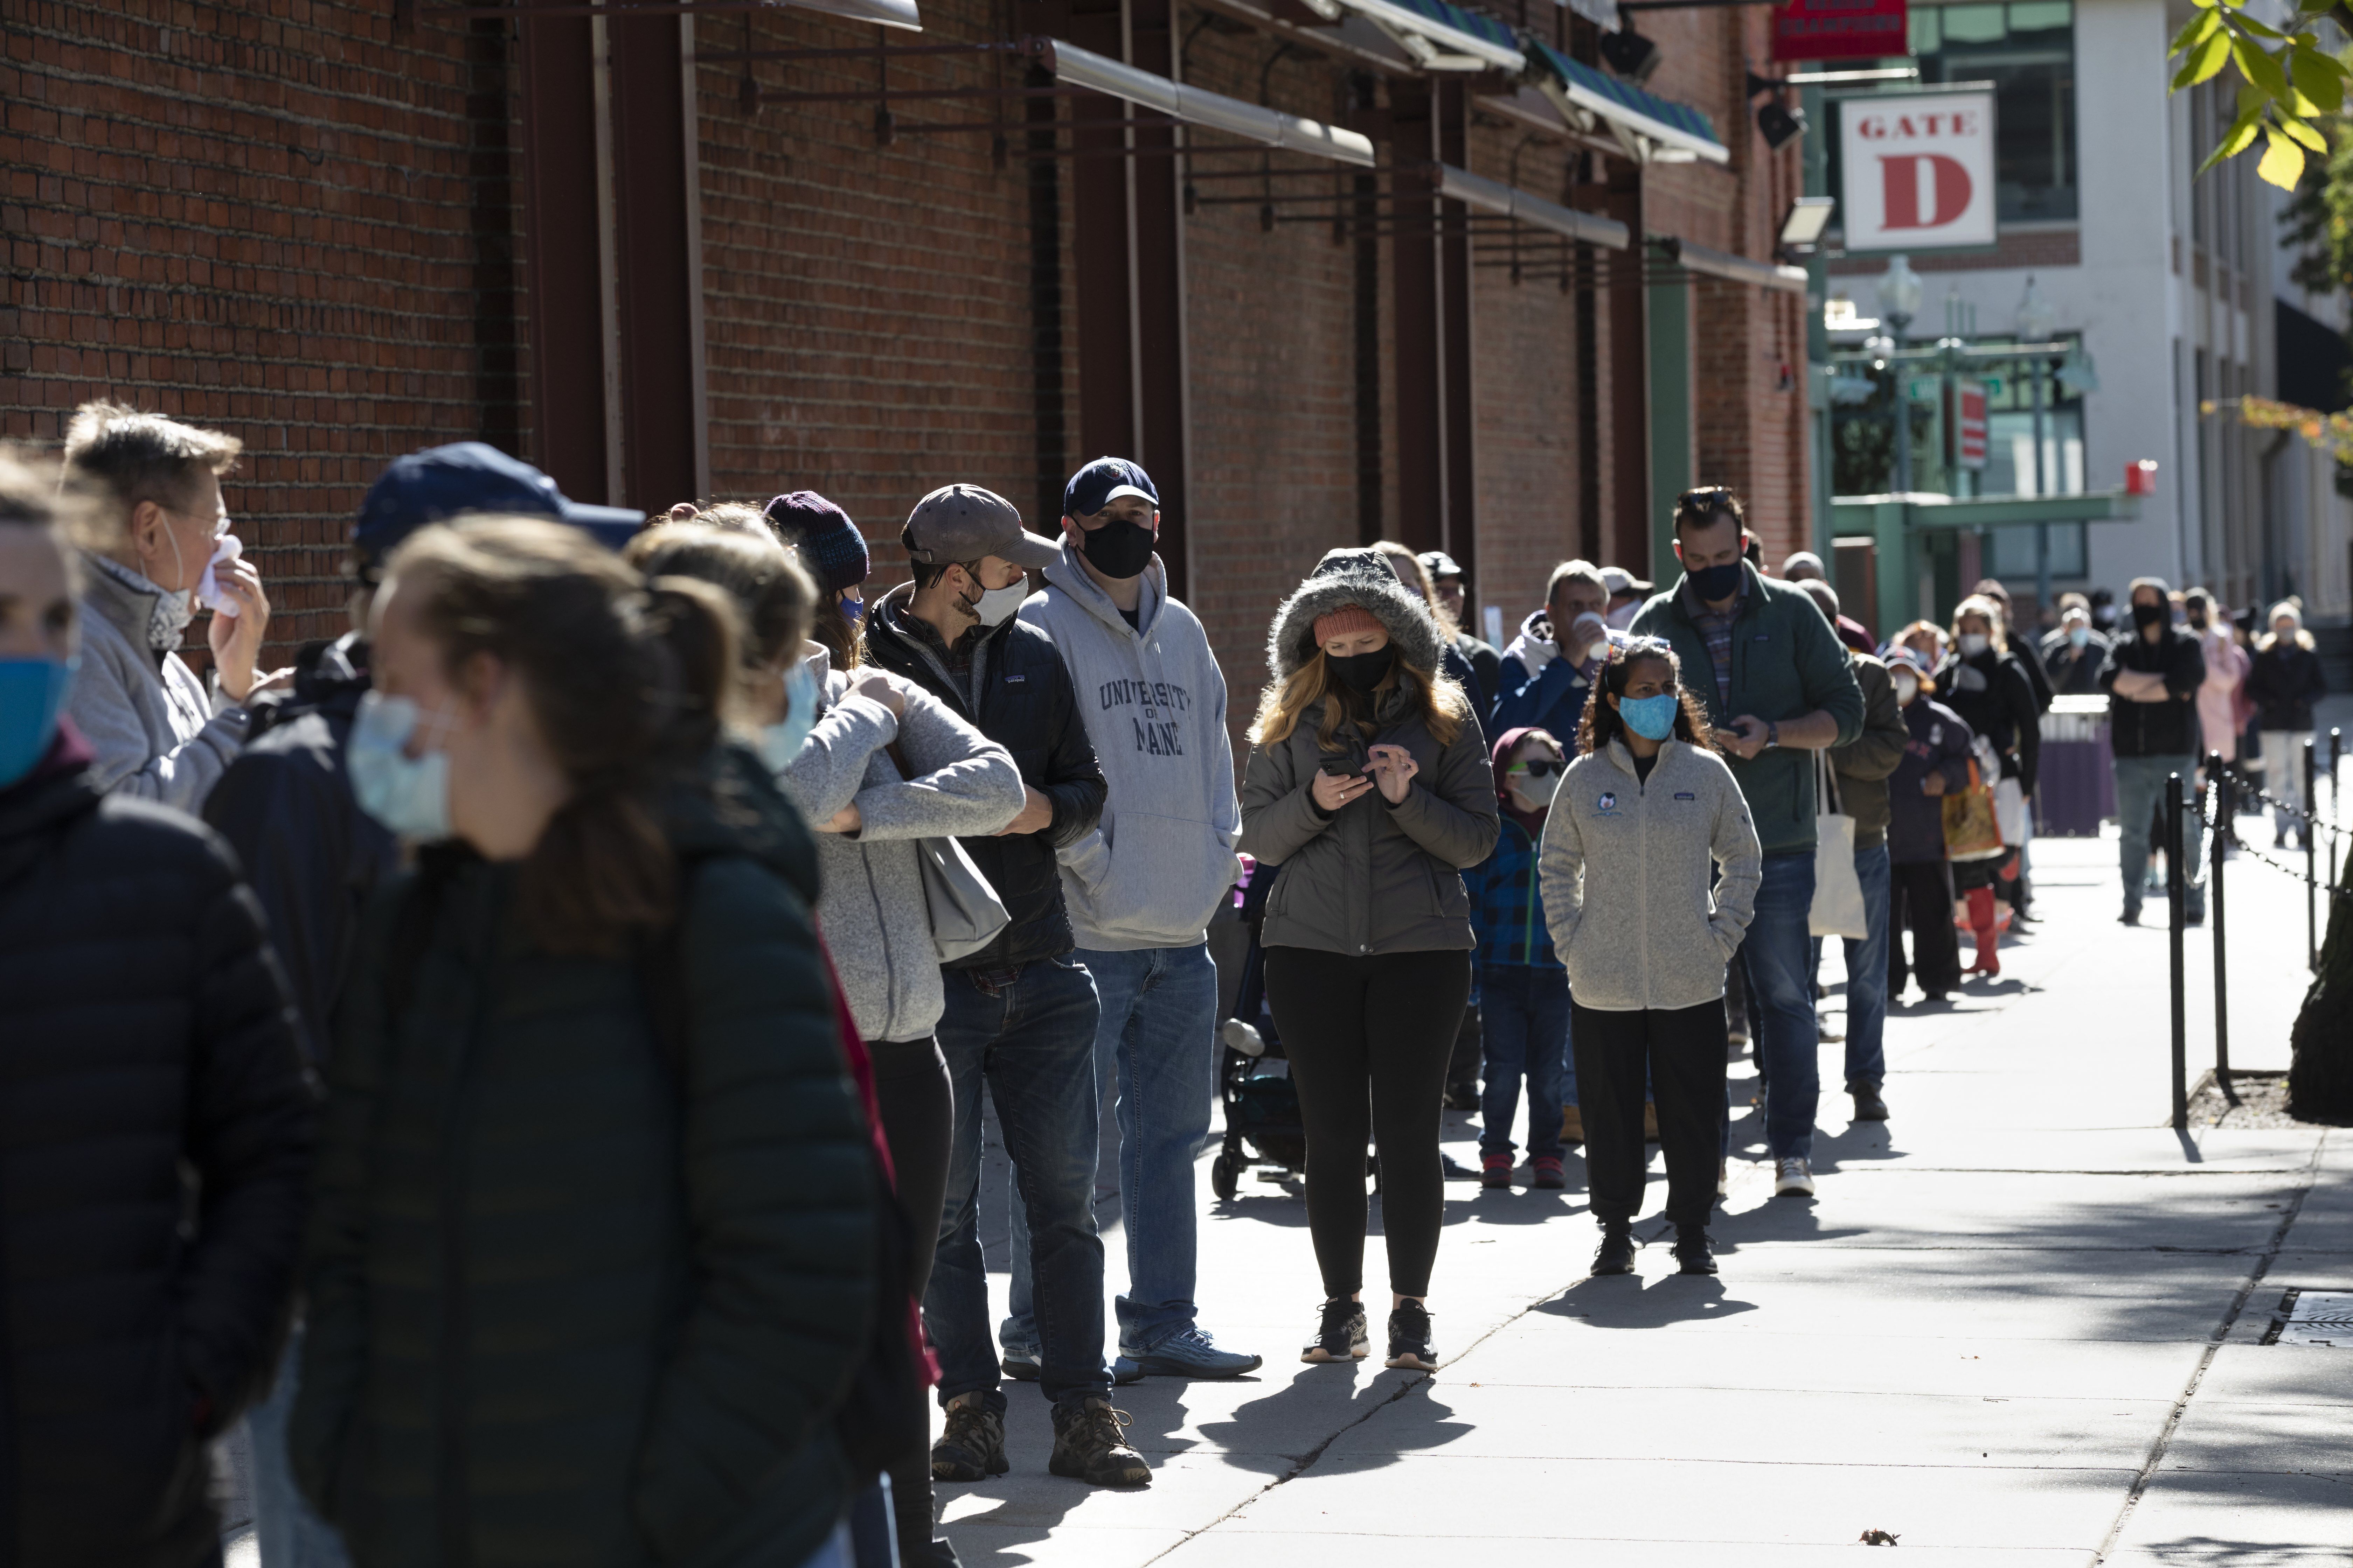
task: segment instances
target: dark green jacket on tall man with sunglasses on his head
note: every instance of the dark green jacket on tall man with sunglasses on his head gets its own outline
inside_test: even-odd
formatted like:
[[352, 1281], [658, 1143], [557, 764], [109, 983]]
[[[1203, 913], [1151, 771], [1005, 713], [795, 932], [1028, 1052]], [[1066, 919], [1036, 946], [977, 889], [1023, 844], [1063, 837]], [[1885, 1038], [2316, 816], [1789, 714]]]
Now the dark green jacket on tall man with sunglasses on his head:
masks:
[[[1767, 724], [1800, 719], [1817, 708], [1838, 719], [1838, 745], [1864, 733], [1864, 691], [1847, 668], [1847, 649], [1802, 588], [1741, 567], [1748, 597], [1732, 628], [1732, 693], [1715, 696], [1708, 639], [1685, 609], [1685, 581], [1652, 597], [1633, 618], [1638, 637], [1664, 637], [1682, 661], [1682, 684], [1699, 693], [1708, 722], [1727, 726], [1753, 715]], [[1767, 856], [1814, 849], [1814, 752], [1774, 748], [1741, 762], [1725, 752], [1732, 778], [1748, 799]]]

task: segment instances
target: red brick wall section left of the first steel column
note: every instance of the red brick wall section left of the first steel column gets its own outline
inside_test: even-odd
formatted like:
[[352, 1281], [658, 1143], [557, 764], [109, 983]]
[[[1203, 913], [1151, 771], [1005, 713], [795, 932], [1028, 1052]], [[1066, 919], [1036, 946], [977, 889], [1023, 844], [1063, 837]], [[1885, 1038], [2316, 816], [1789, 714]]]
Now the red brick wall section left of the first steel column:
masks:
[[113, 397], [235, 433], [275, 654], [339, 632], [384, 458], [525, 435], [499, 33], [395, 35], [376, 0], [19, 2], [0, 49], [0, 430], [54, 442]]

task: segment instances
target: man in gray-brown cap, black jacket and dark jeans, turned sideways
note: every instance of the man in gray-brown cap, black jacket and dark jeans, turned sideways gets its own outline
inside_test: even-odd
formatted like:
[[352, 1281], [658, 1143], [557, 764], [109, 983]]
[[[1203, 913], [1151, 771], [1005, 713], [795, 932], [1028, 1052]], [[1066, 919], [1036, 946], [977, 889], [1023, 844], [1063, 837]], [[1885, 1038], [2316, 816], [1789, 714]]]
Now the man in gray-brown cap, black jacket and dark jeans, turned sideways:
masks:
[[1007, 1467], [979, 1232], [986, 1084], [1031, 1237], [1038, 1387], [1054, 1406], [1047, 1469], [1094, 1486], [1144, 1486], [1153, 1472], [1127, 1441], [1127, 1418], [1111, 1408], [1104, 1363], [1104, 1239], [1094, 1227], [1101, 1001], [1071, 957], [1056, 865], [1104, 816], [1104, 769], [1054, 639], [1014, 614], [1028, 597], [1024, 574], [1061, 552], [1021, 527], [1012, 501], [976, 484], [946, 484], [918, 501], [901, 541], [915, 581], [875, 599], [866, 656], [1012, 752], [1026, 799], [995, 835], [960, 839], [1012, 922], [944, 973], [939, 1048], [955, 1084], [955, 1147], [922, 1300], [948, 1410], [932, 1476], [984, 1481]]

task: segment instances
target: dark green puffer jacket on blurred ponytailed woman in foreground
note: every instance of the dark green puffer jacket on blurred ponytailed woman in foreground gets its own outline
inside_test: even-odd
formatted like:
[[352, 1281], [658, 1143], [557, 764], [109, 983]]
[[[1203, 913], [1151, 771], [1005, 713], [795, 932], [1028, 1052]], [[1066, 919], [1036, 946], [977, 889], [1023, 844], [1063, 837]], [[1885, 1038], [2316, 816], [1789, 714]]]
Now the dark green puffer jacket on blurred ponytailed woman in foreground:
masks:
[[680, 788], [666, 823], [680, 1030], [647, 1018], [652, 964], [534, 950], [515, 867], [482, 860], [445, 884], [391, 1027], [409, 879], [372, 907], [289, 1432], [362, 1568], [798, 1563], [847, 1502], [873, 1152], [809, 830], [718, 766], [718, 799]]

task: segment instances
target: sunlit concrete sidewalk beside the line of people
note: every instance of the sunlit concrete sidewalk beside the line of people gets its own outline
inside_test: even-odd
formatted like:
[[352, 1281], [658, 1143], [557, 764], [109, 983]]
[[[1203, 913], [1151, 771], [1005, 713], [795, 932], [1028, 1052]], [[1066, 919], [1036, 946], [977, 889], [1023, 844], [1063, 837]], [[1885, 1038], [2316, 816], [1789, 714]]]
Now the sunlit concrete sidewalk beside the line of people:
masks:
[[[1817, 1201], [1769, 1197], [1734, 1067], [1720, 1279], [1678, 1276], [1664, 1244], [1588, 1279], [1572, 1159], [1567, 1194], [1449, 1185], [1445, 1371], [1301, 1366], [1320, 1291], [1297, 1185], [1217, 1204], [1202, 1180], [1202, 1324], [1266, 1368], [1120, 1389], [1158, 1467], [1139, 1493], [1047, 1476], [1045, 1403], [1009, 1385], [1014, 1472], [944, 1486], [946, 1535], [972, 1568], [1795, 1566], [1866, 1528], [1955, 1566], [2353, 1559], [2353, 1349], [2259, 1342], [2285, 1288], [2353, 1291], [2353, 1143], [2179, 1138], [2162, 900], [2115, 924], [2113, 839], [2033, 853], [2045, 919], [2000, 980], [1889, 1020], [1892, 1121], [1847, 1124], [1824, 1048]], [[2233, 1060], [2282, 1070], [2297, 889], [2247, 858], [2226, 889]], [[2188, 954], [2195, 1079], [2207, 931]], [[1471, 1135], [1449, 1119], [1475, 1164]], [[1106, 1248], [1115, 1288], [1115, 1229]]]

